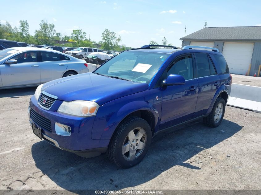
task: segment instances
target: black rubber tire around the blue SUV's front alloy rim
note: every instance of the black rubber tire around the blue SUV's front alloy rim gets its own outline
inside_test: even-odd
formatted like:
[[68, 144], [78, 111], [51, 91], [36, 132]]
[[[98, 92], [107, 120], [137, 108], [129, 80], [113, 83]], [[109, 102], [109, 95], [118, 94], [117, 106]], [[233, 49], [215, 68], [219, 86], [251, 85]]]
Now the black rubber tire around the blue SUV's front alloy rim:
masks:
[[[146, 133], [145, 148], [137, 158], [134, 160], [126, 160], [122, 153], [122, 147], [126, 136], [134, 128], [143, 128]], [[140, 117], [134, 116], [124, 120], [116, 129], [116, 132], [112, 136], [109, 147], [107, 149], [107, 157], [120, 168], [129, 168], [137, 165], [144, 158], [148, 152], [151, 142], [151, 128], [149, 124]], [[135, 138], [136, 139], [136, 138]]]

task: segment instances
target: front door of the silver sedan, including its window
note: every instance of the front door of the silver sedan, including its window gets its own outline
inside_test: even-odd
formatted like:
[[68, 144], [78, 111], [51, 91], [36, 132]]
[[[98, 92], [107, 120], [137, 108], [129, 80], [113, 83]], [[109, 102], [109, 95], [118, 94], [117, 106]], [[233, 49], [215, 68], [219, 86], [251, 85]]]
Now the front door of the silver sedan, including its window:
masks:
[[15, 55], [16, 64], [0, 65], [3, 87], [40, 84], [40, 63], [37, 51], [26, 51]]

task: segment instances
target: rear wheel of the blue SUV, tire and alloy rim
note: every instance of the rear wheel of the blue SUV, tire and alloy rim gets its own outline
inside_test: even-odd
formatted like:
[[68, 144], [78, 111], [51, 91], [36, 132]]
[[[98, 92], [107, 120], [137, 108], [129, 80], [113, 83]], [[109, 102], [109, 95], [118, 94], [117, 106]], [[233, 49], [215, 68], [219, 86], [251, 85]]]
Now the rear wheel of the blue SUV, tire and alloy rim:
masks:
[[219, 126], [225, 114], [225, 106], [225, 100], [218, 97], [210, 114], [203, 118], [203, 122], [209, 127]]

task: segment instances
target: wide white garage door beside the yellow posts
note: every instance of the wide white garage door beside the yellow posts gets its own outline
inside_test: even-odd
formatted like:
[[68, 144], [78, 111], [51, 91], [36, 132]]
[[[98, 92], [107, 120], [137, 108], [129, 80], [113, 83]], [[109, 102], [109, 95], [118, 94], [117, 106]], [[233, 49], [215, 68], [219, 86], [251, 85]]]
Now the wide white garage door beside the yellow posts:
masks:
[[225, 42], [223, 55], [227, 61], [229, 72], [245, 75], [251, 63], [254, 43]]

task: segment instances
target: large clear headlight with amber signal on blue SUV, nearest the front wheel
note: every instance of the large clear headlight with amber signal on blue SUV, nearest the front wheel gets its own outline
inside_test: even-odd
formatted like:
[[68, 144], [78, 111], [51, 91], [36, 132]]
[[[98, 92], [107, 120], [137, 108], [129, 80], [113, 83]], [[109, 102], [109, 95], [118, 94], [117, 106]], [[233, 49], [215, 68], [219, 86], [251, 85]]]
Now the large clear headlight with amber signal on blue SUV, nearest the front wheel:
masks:
[[99, 105], [91, 101], [76, 100], [63, 102], [57, 112], [74, 116], [95, 116]]

